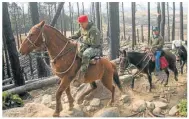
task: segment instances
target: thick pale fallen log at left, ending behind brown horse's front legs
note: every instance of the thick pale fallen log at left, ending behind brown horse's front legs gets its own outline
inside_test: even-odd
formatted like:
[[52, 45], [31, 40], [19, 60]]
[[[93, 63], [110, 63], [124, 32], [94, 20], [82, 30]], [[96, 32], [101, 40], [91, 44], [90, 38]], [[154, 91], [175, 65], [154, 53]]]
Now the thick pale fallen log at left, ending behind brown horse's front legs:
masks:
[[6, 91], [11, 94], [21, 94], [23, 92], [27, 92], [27, 91], [42, 88], [44, 86], [49, 86], [49, 85], [55, 84], [55, 83], [57, 83], [58, 80], [59, 80], [59, 78], [57, 76], [52, 76], [50, 78], [38, 80], [38, 81], [29, 83], [29, 84], [25, 84], [23, 86], [15, 87], [15, 88], [12, 88], [12, 89], [9, 89]]

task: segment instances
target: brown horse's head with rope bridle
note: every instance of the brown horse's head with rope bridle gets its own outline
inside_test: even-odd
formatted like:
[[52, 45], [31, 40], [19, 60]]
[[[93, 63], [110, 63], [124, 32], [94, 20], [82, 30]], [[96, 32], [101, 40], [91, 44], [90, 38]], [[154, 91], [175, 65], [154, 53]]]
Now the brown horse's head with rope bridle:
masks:
[[45, 21], [41, 21], [39, 24], [33, 26], [26, 39], [24, 39], [19, 52], [22, 55], [27, 55], [33, 50], [41, 50], [43, 44], [42, 32]]

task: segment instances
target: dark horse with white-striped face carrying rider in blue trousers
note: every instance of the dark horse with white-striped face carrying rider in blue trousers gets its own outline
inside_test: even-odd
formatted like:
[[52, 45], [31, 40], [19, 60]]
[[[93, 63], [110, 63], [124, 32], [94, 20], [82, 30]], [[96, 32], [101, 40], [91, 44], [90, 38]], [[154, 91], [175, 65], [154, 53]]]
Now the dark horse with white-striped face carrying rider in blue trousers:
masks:
[[[148, 55], [148, 53], [139, 53], [139, 52], [126, 52], [125, 50], [120, 51], [120, 71], [124, 71], [130, 64], [135, 65], [141, 73], [144, 73], [148, 76], [148, 81], [150, 84], [149, 91], [151, 92], [152, 89], [152, 77], [151, 73], [155, 70], [155, 62], [151, 60], [151, 57]], [[169, 62], [168, 68], [171, 69], [174, 72], [175, 80], [178, 81], [178, 71], [176, 68], [176, 57], [169, 51], [164, 51], [162, 55], [165, 56], [167, 61]], [[167, 80], [164, 86], [168, 84], [168, 78], [169, 78], [169, 71], [167, 68], [164, 69], [165, 73], [167, 74]], [[134, 88], [134, 79], [132, 78], [131, 88]]]

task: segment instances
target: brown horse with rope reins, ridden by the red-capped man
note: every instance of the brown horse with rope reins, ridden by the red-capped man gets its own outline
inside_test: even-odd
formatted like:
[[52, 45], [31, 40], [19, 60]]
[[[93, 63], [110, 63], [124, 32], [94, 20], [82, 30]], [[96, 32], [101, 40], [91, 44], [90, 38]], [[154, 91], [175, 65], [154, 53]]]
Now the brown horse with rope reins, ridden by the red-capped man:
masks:
[[[60, 77], [60, 86], [56, 92], [56, 109], [53, 116], [59, 116], [62, 110], [61, 95], [66, 91], [69, 100], [69, 109], [73, 108], [74, 99], [70, 93], [70, 83], [76, 76], [80, 66], [81, 58], [77, 56], [77, 43], [69, 41], [57, 29], [48, 26], [44, 21], [33, 26], [28, 37], [23, 41], [20, 53], [27, 55], [33, 50], [41, 50], [46, 47], [51, 59], [53, 73]], [[84, 83], [90, 83], [91, 89], [86, 91], [78, 99], [82, 102], [84, 97], [97, 88], [95, 80], [101, 80], [103, 85], [111, 91], [112, 98], [108, 104], [114, 102], [115, 87], [113, 80], [120, 90], [122, 90], [116, 65], [106, 58], [100, 58], [96, 64], [90, 64], [84, 76]]]

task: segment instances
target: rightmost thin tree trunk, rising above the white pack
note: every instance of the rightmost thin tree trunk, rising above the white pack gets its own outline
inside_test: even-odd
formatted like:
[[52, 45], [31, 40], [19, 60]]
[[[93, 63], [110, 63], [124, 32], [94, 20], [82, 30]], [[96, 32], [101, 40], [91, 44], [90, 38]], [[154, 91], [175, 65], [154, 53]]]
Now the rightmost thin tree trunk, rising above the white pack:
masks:
[[183, 32], [183, 6], [182, 6], [182, 2], [180, 2], [180, 40], [184, 40], [184, 32]]

